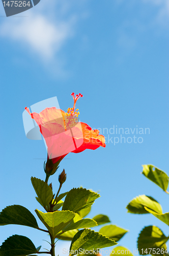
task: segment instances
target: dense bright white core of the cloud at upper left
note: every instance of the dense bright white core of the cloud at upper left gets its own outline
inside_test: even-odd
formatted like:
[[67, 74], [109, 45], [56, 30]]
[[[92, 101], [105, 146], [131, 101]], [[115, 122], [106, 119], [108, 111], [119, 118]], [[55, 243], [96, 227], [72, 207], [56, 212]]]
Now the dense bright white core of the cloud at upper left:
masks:
[[43, 59], [50, 60], [73, 35], [74, 22], [75, 19], [70, 18], [68, 21], [57, 20], [52, 23], [43, 14], [33, 12], [28, 17], [5, 20], [0, 27], [0, 35], [19, 41]]

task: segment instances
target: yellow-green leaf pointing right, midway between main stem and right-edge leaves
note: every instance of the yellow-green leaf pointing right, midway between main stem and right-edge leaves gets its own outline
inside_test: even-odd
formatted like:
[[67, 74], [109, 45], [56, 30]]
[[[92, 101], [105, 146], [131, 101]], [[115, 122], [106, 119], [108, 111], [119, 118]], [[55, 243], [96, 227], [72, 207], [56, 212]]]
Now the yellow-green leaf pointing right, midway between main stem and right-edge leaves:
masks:
[[104, 226], [99, 230], [99, 233], [103, 234], [103, 236], [115, 240], [116, 242], [119, 241], [127, 232], [128, 230], [116, 225]]

